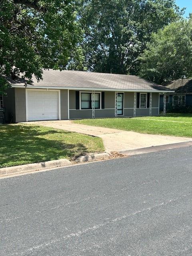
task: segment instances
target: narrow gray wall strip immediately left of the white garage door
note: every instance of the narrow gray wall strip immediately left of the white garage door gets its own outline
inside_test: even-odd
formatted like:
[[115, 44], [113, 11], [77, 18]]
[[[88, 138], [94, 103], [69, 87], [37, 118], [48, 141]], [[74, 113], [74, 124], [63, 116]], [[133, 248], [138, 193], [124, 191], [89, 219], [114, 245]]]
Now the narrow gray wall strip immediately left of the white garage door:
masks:
[[15, 122], [26, 122], [25, 88], [15, 88]]

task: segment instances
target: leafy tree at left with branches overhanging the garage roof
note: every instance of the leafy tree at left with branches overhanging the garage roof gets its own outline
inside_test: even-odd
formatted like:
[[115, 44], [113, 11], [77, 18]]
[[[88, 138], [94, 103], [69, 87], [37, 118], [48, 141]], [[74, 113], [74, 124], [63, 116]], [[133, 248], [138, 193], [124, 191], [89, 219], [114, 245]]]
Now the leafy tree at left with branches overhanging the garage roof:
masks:
[[0, 0], [0, 94], [7, 76], [39, 80], [43, 68], [66, 67], [82, 40], [76, 15], [72, 0]]

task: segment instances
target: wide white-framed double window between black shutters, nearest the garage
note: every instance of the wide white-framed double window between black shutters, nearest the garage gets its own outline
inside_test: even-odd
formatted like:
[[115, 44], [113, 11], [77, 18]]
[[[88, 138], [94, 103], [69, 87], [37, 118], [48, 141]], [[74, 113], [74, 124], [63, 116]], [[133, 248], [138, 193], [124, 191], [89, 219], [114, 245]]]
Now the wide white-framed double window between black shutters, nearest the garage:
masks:
[[[92, 109], [92, 93], [81, 93], [81, 109]], [[100, 108], [100, 93], [95, 93], [95, 109]]]

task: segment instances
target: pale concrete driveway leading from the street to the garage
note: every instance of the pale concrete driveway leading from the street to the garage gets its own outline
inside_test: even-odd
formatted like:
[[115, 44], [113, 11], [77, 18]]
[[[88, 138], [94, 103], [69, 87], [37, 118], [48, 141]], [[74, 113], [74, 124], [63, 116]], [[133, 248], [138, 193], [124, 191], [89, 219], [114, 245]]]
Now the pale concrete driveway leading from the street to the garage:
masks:
[[126, 150], [135, 150], [140, 148], [149, 148], [152, 146], [161, 146], [191, 141], [190, 138], [184, 137], [141, 134], [138, 132], [128, 132], [84, 124], [74, 124], [70, 120], [36, 121], [28, 122], [28, 124], [42, 125], [70, 132], [78, 132], [100, 137], [104, 142], [106, 152], [121, 152]]

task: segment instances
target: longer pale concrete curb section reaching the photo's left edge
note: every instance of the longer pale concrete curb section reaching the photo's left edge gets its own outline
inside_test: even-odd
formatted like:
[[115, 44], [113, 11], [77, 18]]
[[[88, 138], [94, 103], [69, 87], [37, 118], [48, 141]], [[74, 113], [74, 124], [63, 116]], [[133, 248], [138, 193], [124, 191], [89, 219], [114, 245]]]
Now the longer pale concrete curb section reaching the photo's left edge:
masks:
[[43, 170], [46, 168], [54, 168], [54, 167], [60, 167], [60, 166], [68, 166], [72, 163], [67, 159], [58, 159], [58, 160], [52, 160], [47, 162], [39, 162], [34, 164], [23, 164], [18, 166], [12, 166], [12, 167], [5, 167], [0, 168], [0, 176], [6, 176], [11, 174], [20, 174], [20, 173], [28, 173], [28, 172], [35, 172], [38, 170]]

